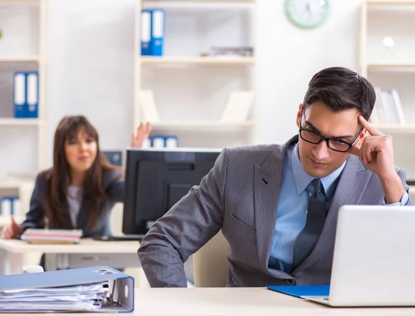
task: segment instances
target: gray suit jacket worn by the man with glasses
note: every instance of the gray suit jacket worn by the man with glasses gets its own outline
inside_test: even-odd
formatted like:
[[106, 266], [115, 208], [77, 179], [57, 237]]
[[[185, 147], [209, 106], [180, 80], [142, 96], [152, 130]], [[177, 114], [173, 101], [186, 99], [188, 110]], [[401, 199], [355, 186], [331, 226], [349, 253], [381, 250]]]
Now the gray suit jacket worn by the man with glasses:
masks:
[[[269, 268], [284, 158], [288, 145], [297, 140], [224, 149], [201, 184], [142, 240], [138, 256], [149, 284], [186, 286], [183, 262], [221, 229], [230, 244], [228, 286], [329, 284], [339, 207], [382, 205], [384, 192], [378, 176], [349, 156], [313, 252], [291, 275]], [[405, 171], [396, 170], [408, 192]]]

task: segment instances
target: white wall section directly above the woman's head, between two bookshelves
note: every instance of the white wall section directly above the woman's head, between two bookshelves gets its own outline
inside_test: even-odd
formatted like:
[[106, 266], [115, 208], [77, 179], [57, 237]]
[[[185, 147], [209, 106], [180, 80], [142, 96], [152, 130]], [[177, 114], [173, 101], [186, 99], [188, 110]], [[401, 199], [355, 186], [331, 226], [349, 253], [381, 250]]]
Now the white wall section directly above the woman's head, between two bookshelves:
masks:
[[[135, 0], [50, 0], [49, 141], [64, 115], [86, 115], [102, 149], [133, 131]], [[51, 161], [51, 154], [50, 161]]]

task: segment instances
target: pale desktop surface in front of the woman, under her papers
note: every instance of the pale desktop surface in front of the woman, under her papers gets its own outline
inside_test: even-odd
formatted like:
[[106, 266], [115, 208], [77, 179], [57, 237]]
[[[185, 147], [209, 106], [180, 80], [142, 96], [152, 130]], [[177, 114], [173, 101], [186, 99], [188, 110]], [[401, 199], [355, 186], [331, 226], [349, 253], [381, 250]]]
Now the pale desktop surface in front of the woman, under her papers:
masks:
[[81, 239], [74, 245], [37, 245], [17, 239], [0, 239], [0, 249], [12, 253], [44, 252], [48, 254], [84, 254], [84, 253], [136, 253], [138, 241], [94, 241]]

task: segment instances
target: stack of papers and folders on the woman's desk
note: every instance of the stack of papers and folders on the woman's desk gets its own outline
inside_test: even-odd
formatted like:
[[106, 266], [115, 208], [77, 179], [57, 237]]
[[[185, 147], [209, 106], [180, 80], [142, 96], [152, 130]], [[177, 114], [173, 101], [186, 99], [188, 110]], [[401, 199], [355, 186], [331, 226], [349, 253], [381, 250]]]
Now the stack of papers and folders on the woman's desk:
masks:
[[28, 228], [20, 239], [28, 243], [79, 243], [82, 230], [39, 230]]

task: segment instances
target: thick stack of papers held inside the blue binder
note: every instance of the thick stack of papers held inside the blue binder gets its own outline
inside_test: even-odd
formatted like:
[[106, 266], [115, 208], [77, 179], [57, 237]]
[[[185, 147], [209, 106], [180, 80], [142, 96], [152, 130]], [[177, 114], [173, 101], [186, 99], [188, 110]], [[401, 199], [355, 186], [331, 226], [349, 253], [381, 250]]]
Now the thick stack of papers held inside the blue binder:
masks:
[[22, 288], [0, 291], [1, 310], [98, 310], [109, 291], [108, 281], [57, 288]]

